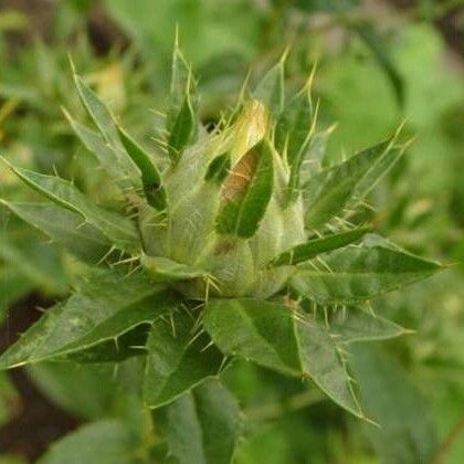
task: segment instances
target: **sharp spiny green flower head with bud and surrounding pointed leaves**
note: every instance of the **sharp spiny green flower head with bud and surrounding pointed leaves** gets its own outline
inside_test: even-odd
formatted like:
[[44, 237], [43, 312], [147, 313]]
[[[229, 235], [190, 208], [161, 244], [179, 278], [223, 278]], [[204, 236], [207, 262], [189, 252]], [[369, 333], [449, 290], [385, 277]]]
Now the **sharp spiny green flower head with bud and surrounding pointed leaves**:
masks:
[[128, 135], [75, 75], [95, 127], [68, 119], [117, 186], [118, 211], [4, 160], [48, 201], [3, 203], [88, 272], [0, 367], [139, 357], [143, 402], [182, 463], [231, 461], [242, 416], [218, 379], [235, 358], [313, 382], [369, 419], [349, 346], [407, 330], [368, 302], [441, 268], [348, 221], [404, 147], [392, 137], [321, 169], [328, 133], [317, 129], [312, 78], [287, 96], [284, 59], [207, 133], [178, 48], [172, 70], [162, 155]]

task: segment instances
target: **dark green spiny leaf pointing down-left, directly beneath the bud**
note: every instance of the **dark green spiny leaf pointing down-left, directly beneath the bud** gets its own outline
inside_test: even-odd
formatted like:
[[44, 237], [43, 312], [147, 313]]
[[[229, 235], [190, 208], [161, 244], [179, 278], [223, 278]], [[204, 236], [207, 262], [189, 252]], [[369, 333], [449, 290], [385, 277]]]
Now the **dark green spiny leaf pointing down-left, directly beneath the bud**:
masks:
[[204, 349], [208, 337], [194, 335], [194, 320], [187, 312], [154, 324], [144, 379], [144, 400], [149, 408], [167, 404], [218, 375], [223, 356], [214, 346]]

